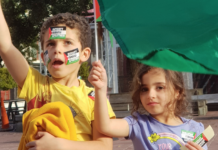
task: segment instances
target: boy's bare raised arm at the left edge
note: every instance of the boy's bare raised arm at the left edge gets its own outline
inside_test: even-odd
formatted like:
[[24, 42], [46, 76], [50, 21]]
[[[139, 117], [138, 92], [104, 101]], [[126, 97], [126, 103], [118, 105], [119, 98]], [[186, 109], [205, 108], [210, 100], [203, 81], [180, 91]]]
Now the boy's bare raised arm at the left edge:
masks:
[[10, 32], [5, 21], [0, 2], [0, 56], [8, 71], [20, 88], [23, 87], [29, 65], [23, 55], [12, 44]]

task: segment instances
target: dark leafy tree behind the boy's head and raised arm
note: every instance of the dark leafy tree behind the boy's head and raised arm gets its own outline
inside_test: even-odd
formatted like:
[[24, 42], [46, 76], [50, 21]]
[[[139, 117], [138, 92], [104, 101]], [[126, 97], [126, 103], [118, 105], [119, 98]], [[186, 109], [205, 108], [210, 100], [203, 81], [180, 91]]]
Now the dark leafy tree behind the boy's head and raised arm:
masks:
[[91, 8], [92, 0], [2, 0], [12, 42], [29, 63], [38, 49], [36, 42], [45, 18], [64, 12], [87, 15]]

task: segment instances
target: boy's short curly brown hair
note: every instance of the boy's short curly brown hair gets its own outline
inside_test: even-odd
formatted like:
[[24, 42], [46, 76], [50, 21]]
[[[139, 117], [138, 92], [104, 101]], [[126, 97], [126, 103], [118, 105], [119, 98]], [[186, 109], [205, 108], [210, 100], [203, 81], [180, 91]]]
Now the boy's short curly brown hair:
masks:
[[77, 14], [59, 13], [55, 16], [49, 17], [42, 25], [40, 32], [41, 47], [43, 49], [44, 35], [49, 27], [65, 24], [67, 27], [76, 28], [80, 31], [79, 40], [82, 49], [91, 47], [91, 29], [87, 20]]

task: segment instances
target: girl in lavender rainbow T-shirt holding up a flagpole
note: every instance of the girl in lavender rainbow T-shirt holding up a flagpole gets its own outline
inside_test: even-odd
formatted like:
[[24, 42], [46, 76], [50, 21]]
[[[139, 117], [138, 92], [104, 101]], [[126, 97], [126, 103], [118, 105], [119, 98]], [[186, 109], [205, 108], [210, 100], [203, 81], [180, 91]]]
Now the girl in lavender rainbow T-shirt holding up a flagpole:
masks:
[[203, 124], [180, 117], [188, 104], [181, 73], [141, 65], [133, 80], [132, 115], [124, 119], [108, 117], [107, 76], [100, 62], [93, 63], [89, 81], [95, 87], [95, 121], [102, 134], [131, 139], [135, 150], [207, 149], [190, 142], [203, 132]]

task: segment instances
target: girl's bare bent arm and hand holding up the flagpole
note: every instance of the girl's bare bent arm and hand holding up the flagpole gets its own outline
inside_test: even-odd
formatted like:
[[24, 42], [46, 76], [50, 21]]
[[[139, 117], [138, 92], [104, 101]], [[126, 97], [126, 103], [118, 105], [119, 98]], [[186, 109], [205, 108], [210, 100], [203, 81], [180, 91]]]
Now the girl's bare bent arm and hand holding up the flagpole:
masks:
[[124, 119], [110, 119], [107, 108], [107, 75], [101, 62], [93, 62], [89, 82], [95, 87], [95, 122], [97, 130], [111, 137], [129, 135], [129, 125]]

